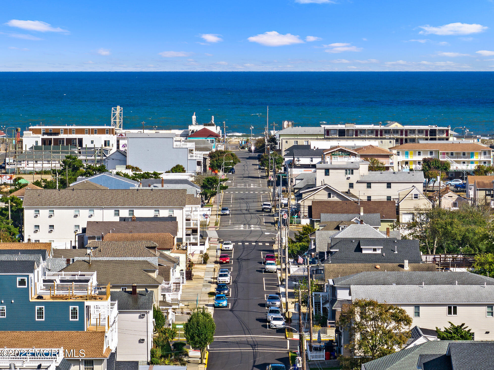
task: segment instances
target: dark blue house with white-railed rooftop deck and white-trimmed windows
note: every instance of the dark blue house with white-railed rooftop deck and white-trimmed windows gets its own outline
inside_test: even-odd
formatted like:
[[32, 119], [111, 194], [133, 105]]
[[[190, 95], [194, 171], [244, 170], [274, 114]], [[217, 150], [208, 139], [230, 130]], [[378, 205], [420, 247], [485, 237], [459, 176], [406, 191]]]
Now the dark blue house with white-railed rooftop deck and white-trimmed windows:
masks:
[[36, 259], [0, 260], [0, 331], [116, 331], [117, 302], [109, 287], [98, 294], [95, 272], [49, 272]]

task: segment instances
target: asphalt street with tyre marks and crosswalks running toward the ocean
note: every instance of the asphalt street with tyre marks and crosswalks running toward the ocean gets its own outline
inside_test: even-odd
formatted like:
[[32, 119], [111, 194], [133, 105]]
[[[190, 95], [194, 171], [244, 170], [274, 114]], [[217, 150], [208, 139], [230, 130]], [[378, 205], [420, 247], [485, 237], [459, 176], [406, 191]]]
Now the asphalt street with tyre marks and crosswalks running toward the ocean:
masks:
[[[261, 203], [270, 201], [270, 189], [257, 169], [256, 154], [238, 152], [241, 163], [236, 174], [228, 175], [223, 206], [230, 216], [221, 216], [217, 231], [222, 241], [234, 243], [231, 256], [230, 296], [226, 308], [215, 308], [216, 331], [209, 346], [208, 370], [266, 369], [273, 363], [289, 369], [288, 352], [296, 349], [293, 340], [285, 339], [283, 329], [268, 329], [266, 296], [276, 294], [278, 277], [265, 273], [262, 259], [272, 253], [276, 234], [272, 213], [262, 212]], [[219, 252], [218, 252], [219, 254]], [[212, 257], [212, 256], [211, 256]]]

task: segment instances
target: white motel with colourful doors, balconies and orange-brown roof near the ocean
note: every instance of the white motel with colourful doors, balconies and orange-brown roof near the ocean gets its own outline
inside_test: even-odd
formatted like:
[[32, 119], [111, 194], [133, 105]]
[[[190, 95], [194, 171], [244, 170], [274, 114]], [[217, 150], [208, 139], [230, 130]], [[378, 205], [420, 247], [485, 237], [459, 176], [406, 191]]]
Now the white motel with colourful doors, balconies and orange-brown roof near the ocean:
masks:
[[421, 170], [424, 158], [449, 162], [449, 175], [454, 175], [454, 171], [471, 171], [478, 164], [490, 166], [493, 163], [492, 149], [475, 143], [421, 142], [397, 145], [390, 151], [396, 153], [400, 171]]

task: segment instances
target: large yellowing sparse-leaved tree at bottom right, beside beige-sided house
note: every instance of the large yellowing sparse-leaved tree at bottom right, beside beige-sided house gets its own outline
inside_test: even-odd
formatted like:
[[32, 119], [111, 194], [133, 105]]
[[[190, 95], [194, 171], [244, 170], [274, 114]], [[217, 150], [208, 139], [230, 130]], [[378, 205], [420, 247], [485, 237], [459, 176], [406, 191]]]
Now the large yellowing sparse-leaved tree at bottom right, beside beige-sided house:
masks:
[[349, 331], [345, 348], [351, 356], [339, 357], [343, 369], [361, 369], [366, 362], [394, 353], [395, 346], [404, 346], [410, 338], [412, 318], [401, 307], [357, 299], [345, 308], [336, 322]]

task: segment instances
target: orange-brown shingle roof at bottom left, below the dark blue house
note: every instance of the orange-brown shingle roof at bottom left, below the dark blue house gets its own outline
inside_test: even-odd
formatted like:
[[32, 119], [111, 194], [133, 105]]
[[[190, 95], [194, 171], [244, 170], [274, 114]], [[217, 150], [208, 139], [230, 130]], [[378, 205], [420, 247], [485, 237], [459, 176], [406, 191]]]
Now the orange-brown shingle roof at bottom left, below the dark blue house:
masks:
[[79, 350], [83, 349], [85, 359], [108, 358], [111, 353], [105, 348], [105, 331], [2, 331], [1, 348], [60, 348], [73, 357], [79, 358]]

